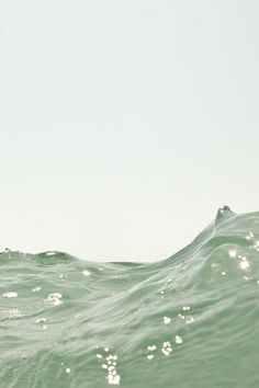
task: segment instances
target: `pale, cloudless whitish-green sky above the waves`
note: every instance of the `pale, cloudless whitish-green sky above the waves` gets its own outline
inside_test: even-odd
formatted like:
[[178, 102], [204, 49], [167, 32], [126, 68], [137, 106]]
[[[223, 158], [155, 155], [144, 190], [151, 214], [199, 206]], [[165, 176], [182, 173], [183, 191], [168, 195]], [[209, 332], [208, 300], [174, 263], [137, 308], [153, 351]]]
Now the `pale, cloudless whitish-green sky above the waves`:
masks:
[[259, 209], [259, 2], [0, 0], [0, 249], [154, 261]]

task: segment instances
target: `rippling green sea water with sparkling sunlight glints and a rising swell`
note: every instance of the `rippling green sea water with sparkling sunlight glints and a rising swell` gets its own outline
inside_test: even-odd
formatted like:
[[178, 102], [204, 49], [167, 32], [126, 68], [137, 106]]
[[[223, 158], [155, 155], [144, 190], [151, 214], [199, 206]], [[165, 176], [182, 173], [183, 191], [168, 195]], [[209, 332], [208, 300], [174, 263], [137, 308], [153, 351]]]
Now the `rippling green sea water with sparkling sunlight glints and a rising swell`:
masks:
[[1, 388], [259, 387], [259, 213], [156, 263], [0, 254]]

